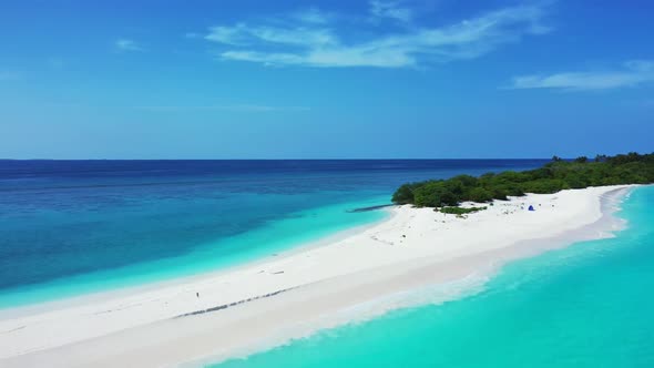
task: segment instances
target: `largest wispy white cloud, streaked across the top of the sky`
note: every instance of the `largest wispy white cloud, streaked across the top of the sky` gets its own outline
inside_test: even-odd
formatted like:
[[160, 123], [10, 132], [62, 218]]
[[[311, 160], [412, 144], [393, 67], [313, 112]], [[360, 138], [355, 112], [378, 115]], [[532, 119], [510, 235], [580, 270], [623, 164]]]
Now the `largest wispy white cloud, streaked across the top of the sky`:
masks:
[[[361, 21], [351, 33], [336, 25], [337, 17], [311, 10], [310, 17], [297, 13], [277, 22], [266, 20], [212, 27], [205, 40], [221, 47], [218, 58], [266, 65], [316, 68], [376, 67], [410, 68], [481, 57], [501, 44], [517, 42], [525, 34], [543, 34], [543, 6], [503, 8], [442, 27], [411, 24], [402, 32], [387, 32], [352, 39], [352, 34], [375, 34]], [[370, 14], [392, 21], [410, 21], [412, 12], [398, 2], [370, 2]], [[282, 24], [282, 25], [280, 25]], [[349, 24], [352, 25], [352, 24]]]

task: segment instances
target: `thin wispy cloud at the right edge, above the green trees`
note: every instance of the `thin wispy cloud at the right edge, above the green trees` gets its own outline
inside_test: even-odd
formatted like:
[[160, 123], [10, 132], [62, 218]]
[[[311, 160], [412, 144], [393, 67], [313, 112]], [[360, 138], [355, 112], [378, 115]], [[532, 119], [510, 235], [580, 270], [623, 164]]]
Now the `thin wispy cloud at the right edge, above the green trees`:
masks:
[[610, 90], [654, 82], [654, 61], [629, 61], [617, 70], [532, 74], [513, 78], [512, 89]]

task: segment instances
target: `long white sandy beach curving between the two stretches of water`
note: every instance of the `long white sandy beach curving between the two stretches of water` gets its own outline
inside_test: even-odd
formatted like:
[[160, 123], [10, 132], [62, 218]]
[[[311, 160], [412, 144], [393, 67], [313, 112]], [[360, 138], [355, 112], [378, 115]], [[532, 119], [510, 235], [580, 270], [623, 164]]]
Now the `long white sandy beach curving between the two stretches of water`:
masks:
[[345, 323], [376, 300], [482, 279], [509, 259], [606, 236], [629, 187], [497, 201], [467, 218], [397, 206], [359, 233], [233, 270], [0, 311], [0, 366], [161, 367], [242, 355]]

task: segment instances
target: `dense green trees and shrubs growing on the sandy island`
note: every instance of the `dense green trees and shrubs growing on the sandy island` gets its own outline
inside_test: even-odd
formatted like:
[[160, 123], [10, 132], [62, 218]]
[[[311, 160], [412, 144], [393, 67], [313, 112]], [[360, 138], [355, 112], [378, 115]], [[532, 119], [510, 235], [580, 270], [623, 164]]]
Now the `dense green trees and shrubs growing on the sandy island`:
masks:
[[554, 156], [552, 162], [535, 170], [488, 173], [479, 177], [459, 175], [403, 184], [392, 195], [392, 202], [422, 207], [458, 206], [467, 201], [483, 203], [525, 193], [650, 183], [654, 183], [654, 153], [597, 155], [594, 160], [582, 156], [574, 161]]

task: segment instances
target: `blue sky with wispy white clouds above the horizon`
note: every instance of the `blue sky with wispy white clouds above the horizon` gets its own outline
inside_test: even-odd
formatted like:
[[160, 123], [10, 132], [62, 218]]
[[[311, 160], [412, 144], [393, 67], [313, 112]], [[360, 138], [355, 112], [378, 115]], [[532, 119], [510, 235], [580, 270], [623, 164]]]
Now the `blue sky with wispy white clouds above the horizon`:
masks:
[[654, 151], [651, 1], [0, 4], [0, 157]]

